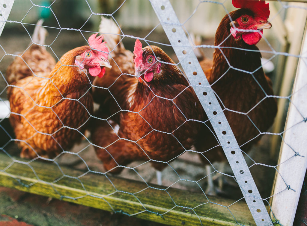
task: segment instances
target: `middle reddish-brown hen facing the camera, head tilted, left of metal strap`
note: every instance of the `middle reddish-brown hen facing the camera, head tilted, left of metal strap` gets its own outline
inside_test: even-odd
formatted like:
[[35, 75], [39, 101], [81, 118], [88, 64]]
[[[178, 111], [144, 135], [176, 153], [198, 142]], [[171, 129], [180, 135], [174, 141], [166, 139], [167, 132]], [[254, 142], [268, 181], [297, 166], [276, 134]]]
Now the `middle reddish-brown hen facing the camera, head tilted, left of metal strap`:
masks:
[[92, 130], [97, 156], [112, 173], [135, 160], [162, 170], [191, 148], [204, 125], [194, 121], [205, 117], [196, 94], [161, 48], [142, 48], [136, 40], [134, 63], [138, 80], [122, 96], [128, 111], [120, 113], [119, 124], [97, 119]]

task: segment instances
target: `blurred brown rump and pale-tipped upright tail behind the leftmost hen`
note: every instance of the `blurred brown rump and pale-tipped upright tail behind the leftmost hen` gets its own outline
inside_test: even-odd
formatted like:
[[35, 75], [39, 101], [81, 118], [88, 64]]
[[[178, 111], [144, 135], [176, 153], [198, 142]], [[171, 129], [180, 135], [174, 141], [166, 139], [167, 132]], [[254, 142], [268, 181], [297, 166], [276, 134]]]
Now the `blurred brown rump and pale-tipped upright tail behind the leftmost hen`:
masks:
[[56, 65], [52, 55], [43, 46], [47, 30], [42, 24], [43, 20], [37, 22], [29, 47], [8, 66], [6, 76], [9, 84], [36, 73], [50, 72]]

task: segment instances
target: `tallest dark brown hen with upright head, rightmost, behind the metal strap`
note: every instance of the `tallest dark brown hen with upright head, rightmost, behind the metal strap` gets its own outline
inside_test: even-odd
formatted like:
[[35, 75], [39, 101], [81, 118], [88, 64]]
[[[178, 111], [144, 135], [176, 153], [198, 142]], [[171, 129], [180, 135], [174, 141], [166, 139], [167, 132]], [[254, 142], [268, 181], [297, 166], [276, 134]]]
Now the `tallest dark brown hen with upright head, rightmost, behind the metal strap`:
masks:
[[[200, 65], [225, 109], [223, 112], [240, 148], [247, 152], [270, 128], [277, 112], [272, 82], [263, 72], [261, 53], [255, 46], [262, 38], [262, 28], [271, 28], [267, 21], [270, 10], [265, 1], [232, 2], [241, 9], [225, 15], [217, 28], [214, 45], [218, 48], [213, 53], [213, 66], [208, 68], [208, 59]], [[204, 136], [207, 137], [205, 142]], [[200, 133], [195, 147], [205, 163], [226, 160], [223, 149], [209, 130]]]

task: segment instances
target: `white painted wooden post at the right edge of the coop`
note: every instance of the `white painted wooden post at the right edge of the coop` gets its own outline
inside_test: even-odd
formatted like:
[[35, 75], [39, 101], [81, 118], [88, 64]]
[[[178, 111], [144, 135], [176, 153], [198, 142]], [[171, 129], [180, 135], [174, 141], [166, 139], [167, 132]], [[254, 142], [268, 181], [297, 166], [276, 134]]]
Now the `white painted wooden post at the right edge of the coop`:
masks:
[[[306, 27], [275, 176], [271, 217], [291, 226], [307, 168]], [[272, 218], [274, 219], [274, 218]]]

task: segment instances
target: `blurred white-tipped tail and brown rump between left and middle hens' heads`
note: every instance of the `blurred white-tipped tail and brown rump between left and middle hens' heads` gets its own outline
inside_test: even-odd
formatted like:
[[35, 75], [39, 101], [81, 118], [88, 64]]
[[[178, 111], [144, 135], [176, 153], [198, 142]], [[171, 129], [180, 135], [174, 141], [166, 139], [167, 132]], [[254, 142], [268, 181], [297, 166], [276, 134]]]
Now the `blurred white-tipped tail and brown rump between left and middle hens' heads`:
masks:
[[120, 34], [119, 27], [110, 19], [101, 17], [99, 32], [104, 33], [106, 46], [110, 50], [109, 61], [112, 66], [106, 70], [103, 78], [96, 77], [93, 83], [94, 101], [100, 104], [99, 117], [109, 118], [119, 123], [119, 114], [127, 109], [126, 98], [129, 95], [129, 88], [137, 81], [134, 79], [133, 53], [126, 50]]

